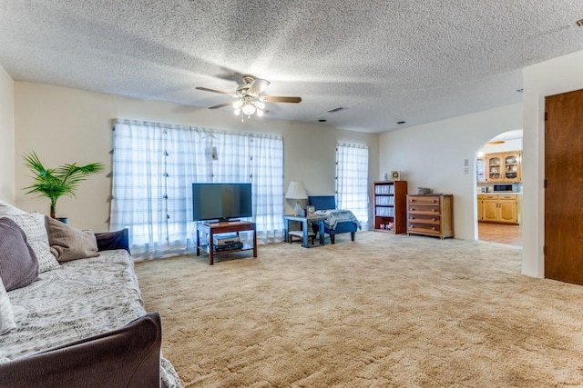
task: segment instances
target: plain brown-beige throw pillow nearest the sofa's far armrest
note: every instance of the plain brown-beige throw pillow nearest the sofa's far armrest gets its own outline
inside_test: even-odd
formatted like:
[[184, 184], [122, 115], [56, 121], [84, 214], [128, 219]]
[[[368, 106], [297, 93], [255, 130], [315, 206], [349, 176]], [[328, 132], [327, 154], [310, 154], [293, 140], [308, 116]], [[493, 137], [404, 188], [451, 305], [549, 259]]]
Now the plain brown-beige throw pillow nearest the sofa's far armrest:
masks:
[[45, 215], [45, 227], [51, 253], [59, 263], [99, 255], [93, 232], [81, 231], [48, 215]]

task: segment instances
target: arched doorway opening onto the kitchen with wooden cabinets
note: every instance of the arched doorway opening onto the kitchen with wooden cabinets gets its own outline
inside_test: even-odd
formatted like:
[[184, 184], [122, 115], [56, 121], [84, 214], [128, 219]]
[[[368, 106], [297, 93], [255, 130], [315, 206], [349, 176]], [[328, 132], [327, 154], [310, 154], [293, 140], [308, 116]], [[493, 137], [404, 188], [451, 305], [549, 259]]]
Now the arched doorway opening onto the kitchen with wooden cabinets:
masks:
[[522, 129], [498, 134], [476, 155], [477, 238], [522, 245]]

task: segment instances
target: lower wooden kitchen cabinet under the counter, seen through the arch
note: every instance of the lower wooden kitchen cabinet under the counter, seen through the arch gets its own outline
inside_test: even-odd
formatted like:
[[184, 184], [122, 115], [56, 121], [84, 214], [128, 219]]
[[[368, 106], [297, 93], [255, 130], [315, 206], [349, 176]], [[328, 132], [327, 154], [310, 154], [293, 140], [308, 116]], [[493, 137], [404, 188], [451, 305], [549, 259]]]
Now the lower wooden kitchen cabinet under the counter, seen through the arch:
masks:
[[478, 194], [477, 220], [484, 223], [520, 224], [520, 194]]

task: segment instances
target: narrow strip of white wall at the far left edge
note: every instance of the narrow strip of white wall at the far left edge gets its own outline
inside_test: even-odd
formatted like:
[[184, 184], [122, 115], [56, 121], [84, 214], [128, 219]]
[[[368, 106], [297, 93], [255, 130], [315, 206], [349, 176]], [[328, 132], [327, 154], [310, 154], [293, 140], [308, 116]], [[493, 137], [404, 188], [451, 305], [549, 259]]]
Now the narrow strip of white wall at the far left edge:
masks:
[[15, 204], [15, 82], [0, 66], [0, 200]]

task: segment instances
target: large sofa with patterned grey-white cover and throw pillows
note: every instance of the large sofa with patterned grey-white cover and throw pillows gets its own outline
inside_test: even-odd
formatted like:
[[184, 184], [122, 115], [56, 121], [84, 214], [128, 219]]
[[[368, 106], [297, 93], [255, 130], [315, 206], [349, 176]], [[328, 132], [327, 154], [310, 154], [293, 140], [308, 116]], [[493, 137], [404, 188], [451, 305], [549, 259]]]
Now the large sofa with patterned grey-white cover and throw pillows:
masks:
[[180, 387], [133, 268], [127, 231], [0, 201], [0, 387]]

